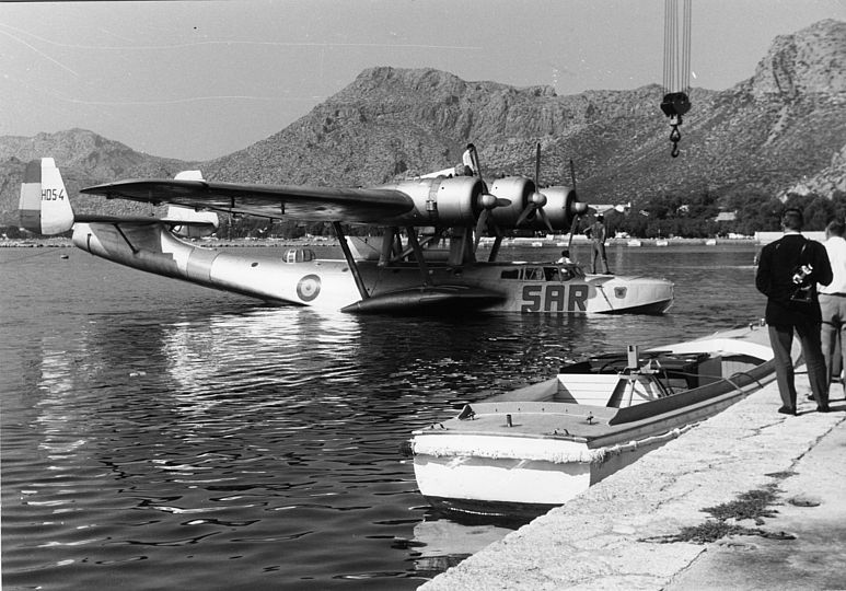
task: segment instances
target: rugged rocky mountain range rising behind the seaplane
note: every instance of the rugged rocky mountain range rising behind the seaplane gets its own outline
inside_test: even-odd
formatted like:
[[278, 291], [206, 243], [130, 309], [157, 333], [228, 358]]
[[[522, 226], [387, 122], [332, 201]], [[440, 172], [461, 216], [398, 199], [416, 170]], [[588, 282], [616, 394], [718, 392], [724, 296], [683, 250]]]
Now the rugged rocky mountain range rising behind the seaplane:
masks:
[[752, 78], [731, 89], [694, 89], [677, 159], [670, 157], [662, 94], [648, 85], [558, 96], [551, 86], [379, 67], [286, 129], [205, 163], [140, 154], [82, 130], [0, 137], [0, 174], [7, 173], [0, 176], [0, 221], [14, 218], [12, 169], [47, 154], [82, 184], [199, 166], [218, 181], [356, 186], [457, 163], [471, 141], [486, 176], [532, 175], [540, 141], [542, 183], [568, 182], [572, 159], [582, 198], [636, 205], [668, 194], [783, 195], [818, 175], [836, 181], [846, 172], [837, 158], [846, 146], [844, 22], [826, 20], [777, 37]]

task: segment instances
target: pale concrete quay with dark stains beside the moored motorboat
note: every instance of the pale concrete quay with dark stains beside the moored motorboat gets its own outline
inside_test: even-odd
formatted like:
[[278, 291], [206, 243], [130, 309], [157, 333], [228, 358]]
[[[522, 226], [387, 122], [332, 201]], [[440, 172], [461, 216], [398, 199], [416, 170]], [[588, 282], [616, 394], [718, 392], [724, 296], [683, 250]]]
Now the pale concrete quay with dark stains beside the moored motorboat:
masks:
[[[797, 390], [798, 416], [773, 382], [419, 589], [846, 589], [846, 401]], [[757, 519], [704, 511], [753, 491]], [[680, 540], [702, 525], [733, 531]]]

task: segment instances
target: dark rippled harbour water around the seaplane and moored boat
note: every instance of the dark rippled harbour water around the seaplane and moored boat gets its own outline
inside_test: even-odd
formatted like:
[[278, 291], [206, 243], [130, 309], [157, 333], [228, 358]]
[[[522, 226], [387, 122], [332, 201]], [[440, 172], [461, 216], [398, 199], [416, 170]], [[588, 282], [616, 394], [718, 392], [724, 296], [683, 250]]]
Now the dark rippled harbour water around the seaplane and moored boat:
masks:
[[582, 355], [756, 317], [748, 259], [612, 253], [676, 282], [661, 317], [317, 314], [94, 258], [26, 270], [2, 289], [27, 305], [0, 312], [7, 583], [416, 587], [514, 524], [432, 512], [398, 453], [413, 429]]

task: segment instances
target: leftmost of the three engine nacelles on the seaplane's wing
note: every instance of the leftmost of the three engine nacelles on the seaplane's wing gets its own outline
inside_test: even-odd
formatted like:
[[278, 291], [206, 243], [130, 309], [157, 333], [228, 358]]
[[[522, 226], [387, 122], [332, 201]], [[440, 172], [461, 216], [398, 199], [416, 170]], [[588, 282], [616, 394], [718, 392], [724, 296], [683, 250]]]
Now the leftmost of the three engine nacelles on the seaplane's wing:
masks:
[[397, 217], [397, 225], [473, 225], [482, 212], [482, 182], [476, 176], [415, 178], [384, 188], [402, 190], [414, 210]]

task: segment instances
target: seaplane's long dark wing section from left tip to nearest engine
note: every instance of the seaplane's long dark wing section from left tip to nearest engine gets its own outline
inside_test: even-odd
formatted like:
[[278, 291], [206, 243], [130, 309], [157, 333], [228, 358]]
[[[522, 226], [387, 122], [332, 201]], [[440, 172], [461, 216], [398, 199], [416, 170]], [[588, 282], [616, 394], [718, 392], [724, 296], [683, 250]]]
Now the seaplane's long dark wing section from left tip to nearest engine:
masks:
[[414, 208], [408, 195], [390, 188], [250, 185], [166, 178], [118, 181], [86, 187], [80, 193], [225, 213], [347, 223], [380, 223]]

